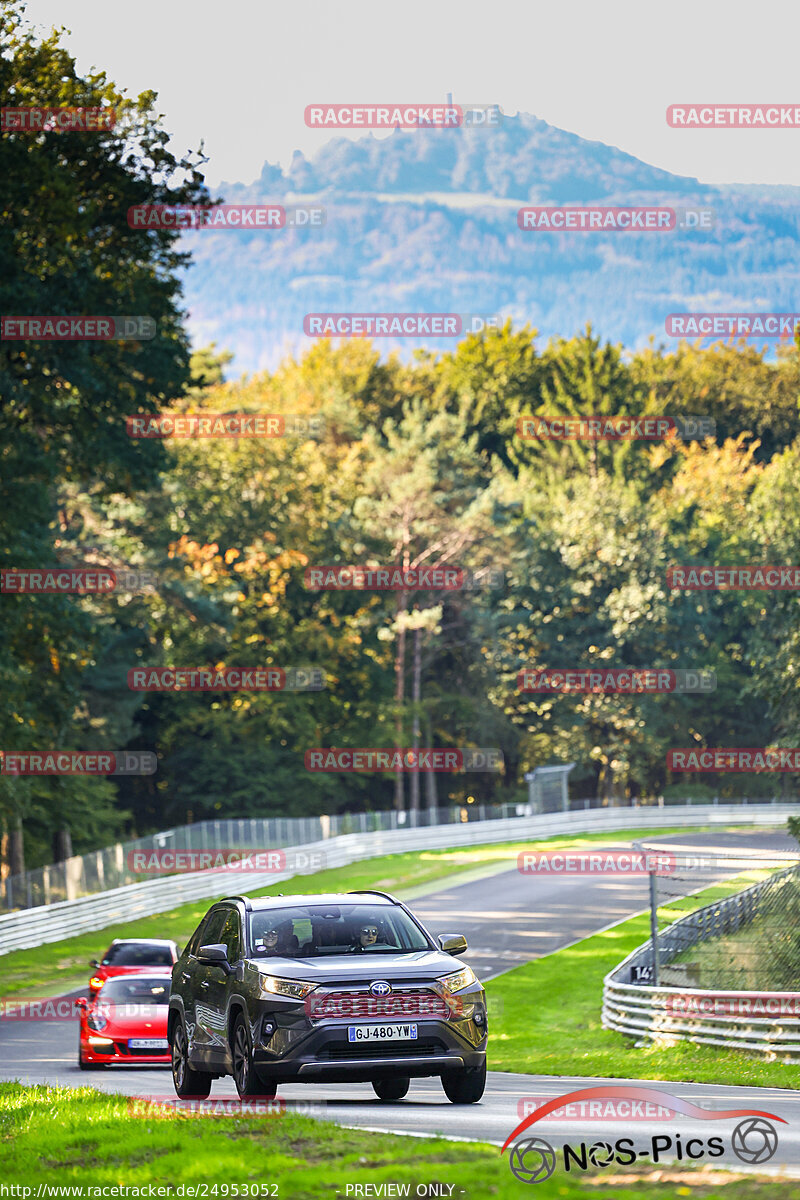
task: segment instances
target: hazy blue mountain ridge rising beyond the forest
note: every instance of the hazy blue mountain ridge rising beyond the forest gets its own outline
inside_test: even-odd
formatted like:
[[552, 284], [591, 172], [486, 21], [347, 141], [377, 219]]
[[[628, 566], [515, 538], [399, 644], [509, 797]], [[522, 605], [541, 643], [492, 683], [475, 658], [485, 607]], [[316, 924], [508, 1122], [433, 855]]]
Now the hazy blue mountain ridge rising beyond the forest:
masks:
[[[800, 295], [800, 188], [708, 186], [524, 114], [494, 130], [335, 138], [213, 193], [326, 209], [317, 229], [185, 234], [192, 337], [234, 350], [233, 376], [300, 352], [309, 312], [498, 313], [543, 338], [590, 320], [632, 348], [668, 343], [669, 312], [794, 311]], [[522, 204], [699, 206], [716, 220], [704, 232], [523, 232]], [[425, 341], [378, 344], [405, 355]]]

